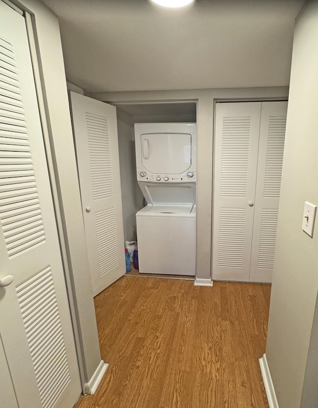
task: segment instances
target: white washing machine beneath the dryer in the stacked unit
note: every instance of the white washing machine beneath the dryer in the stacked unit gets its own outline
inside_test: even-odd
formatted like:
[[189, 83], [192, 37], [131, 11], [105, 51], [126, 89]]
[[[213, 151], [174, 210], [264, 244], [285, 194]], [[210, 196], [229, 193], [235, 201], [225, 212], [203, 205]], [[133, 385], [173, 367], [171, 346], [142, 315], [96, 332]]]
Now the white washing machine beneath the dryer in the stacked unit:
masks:
[[139, 272], [194, 276], [195, 184], [141, 189], [149, 204], [136, 214]]

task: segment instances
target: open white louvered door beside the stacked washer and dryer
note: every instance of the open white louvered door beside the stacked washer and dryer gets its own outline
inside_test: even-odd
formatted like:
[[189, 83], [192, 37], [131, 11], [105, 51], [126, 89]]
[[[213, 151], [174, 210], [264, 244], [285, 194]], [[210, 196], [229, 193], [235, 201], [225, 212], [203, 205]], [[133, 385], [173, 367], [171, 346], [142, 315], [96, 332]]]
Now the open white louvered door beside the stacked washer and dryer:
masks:
[[97, 295], [126, 272], [116, 108], [70, 93], [89, 269]]

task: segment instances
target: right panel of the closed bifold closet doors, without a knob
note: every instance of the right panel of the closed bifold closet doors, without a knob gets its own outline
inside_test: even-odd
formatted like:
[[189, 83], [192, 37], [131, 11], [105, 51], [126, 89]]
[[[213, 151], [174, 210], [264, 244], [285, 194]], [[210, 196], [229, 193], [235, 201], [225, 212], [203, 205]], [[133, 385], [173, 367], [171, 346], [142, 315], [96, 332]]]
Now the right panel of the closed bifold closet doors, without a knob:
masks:
[[282, 176], [287, 102], [262, 102], [251, 282], [271, 282]]

